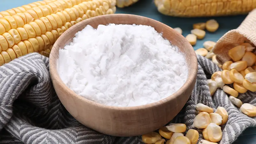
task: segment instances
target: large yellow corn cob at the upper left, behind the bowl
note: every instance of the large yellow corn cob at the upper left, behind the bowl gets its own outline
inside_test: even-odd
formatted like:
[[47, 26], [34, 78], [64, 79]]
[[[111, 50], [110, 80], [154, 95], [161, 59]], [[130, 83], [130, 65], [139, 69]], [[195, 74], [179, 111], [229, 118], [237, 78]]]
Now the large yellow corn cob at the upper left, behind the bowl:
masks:
[[[49, 14], [42, 12], [39, 16], [40, 11], [30, 9], [31, 14], [17, 13], [0, 19], [0, 66], [31, 52], [49, 56], [54, 42], [71, 26], [91, 17], [116, 12], [116, 0], [57, 0], [48, 4], [54, 7], [56, 2], [63, 4], [62, 7], [55, 11], [52, 8], [53, 12], [47, 11]], [[13, 18], [19, 15], [22, 17]]]

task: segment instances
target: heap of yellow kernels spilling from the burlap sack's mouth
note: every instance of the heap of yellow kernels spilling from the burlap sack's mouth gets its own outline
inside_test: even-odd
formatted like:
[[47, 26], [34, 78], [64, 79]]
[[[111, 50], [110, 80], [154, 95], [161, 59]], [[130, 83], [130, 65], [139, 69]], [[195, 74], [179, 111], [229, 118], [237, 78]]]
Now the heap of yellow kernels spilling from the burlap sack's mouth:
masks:
[[[241, 112], [247, 116], [256, 116], [255, 106], [249, 103], [243, 104], [243, 102], [237, 98], [239, 93], [245, 93], [248, 90], [256, 92], [255, 47], [246, 42], [237, 45], [228, 51], [231, 60], [220, 65], [216, 60], [216, 55], [212, 52], [215, 43], [206, 41], [203, 45], [205, 48], [196, 50], [196, 53], [212, 59], [213, 63], [223, 69], [222, 71], [213, 73], [211, 79], [207, 80], [211, 95], [215, 93], [217, 88], [221, 88], [230, 95], [229, 100], [236, 107], [240, 108]], [[207, 50], [210, 50], [210, 52]]]

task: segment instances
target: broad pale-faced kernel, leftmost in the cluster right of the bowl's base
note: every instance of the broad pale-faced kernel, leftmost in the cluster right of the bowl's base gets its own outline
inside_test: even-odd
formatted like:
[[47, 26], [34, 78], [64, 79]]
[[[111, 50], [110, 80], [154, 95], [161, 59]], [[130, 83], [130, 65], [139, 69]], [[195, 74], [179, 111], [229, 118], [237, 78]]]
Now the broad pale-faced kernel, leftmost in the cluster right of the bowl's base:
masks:
[[195, 117], [193, 126], [195, 126], [198, 129], [203, 129], [206, 128], [207, 125], [211, 122], [212, 121], [210, 115], [207, 112], [201, 112]]

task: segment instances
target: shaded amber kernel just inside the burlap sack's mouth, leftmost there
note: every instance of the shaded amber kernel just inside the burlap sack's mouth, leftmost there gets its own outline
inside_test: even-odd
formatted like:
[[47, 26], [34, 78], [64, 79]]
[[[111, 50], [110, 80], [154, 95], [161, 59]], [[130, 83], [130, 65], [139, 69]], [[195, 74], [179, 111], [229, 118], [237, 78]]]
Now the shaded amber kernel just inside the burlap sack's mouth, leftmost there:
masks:
[[245, 54], [245, 46], [243, 45], [238, 45], [228, 51], [229, 57], [235, 62], [241, 60], [244, 54]]

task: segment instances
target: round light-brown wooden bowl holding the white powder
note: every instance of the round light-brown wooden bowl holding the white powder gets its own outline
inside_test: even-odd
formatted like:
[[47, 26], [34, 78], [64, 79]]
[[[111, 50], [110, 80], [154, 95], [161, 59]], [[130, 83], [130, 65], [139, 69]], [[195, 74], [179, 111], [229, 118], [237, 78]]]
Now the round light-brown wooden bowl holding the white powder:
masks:
[[[57, 71], [59, 49], [69, 44], [76, 32], [86, 25], [97, 28], [99, 24], [137, 24], [154, 27], [163, 32], [163, 37], [179, 47], [188, 66], [185, 84], [169, 97], [142, 106], [113, 107], [93, 102], [77, 95], [60, 79]], [[187, 102], [196, 82], [197, 58], [191, 44], [169, 26], [142, 16], [130, 14], [110, 14], [97, 16], [77, 23], [65, 31], [52, 47], [50, 54], [50, 74], [55, 91], [68, 112], [80, 123], [95, 131], [113, 136], [137, 136], [152, 132], [170, 122]]]

